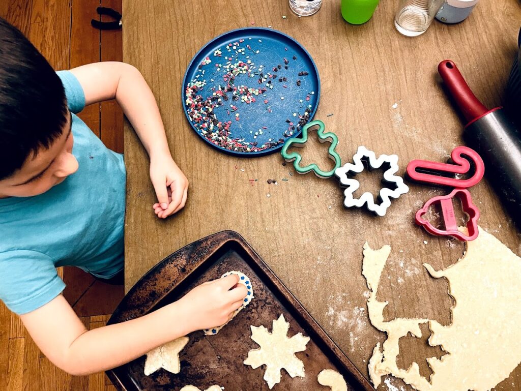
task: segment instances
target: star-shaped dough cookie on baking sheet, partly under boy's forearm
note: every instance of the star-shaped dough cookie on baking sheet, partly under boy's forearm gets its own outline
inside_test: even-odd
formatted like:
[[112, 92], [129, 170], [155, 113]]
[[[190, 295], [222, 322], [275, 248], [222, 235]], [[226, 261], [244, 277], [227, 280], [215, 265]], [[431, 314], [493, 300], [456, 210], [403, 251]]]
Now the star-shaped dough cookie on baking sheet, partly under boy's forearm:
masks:
[[179, 353], [188, 341], [188, 337], [180, 337], [149, 351], [146, 354], [145, 375], [148, 376], [160, 368], [171, 373], [179, 373], [181, 371]]

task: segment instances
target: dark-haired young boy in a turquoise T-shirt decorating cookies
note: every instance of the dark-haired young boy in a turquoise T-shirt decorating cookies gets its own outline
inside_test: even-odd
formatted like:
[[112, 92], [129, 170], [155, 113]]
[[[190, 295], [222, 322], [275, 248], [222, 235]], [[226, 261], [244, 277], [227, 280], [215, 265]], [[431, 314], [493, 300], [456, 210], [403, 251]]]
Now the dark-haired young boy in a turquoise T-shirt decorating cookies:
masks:
[[116, 367], [224, 324], [246, 296], [230, 275], [142, 318], [87, 331], [61, 295], [58, 266], [106, 280], [123, 270], [123, 157], [75, 115], [114, 98], [150, 157], [158, 199], [153, 210], [164, 219], [183, 208], [188, 181], [170, 155], [154, 96], [139, 71], [102, 62], [55, 73], [0, 18], [0, 299], [20, 314], [47, 358], [75, 375]]

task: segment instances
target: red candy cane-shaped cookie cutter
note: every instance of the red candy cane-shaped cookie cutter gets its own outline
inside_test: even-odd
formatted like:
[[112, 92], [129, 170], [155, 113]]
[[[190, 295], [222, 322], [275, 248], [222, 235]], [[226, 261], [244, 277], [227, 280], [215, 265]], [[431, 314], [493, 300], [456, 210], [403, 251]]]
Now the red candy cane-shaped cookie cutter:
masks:
[[[485, 164], [474, 149], [463, 145], [458, 146], [452, 150], [451, 160], [453, 164], [419, 159], [411, 160], [407, 165], [407, 176], [418, 182], [458, 188], [472, 187], [483, 178]], [[474, 165], [474, 174], [468, 179], [454, 178], [455, 175], [467, 174], [470, 171], [470, 162]], [[442, 176], [442, 174], [450, 174], [452, 178]]]

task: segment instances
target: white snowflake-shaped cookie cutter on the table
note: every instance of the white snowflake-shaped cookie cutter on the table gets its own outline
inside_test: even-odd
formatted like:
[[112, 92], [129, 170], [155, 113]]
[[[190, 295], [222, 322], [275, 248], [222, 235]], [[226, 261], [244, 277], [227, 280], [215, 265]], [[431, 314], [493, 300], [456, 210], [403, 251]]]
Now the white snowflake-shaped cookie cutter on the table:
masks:
[[[334, 174], [340, 180], [343, 186], [347, 186], [344, 190], [344, 205], [347, 208], [357, 207], [361, 208], [364, 204], [367, 209], [376, 213], [378, 216], [384, 216], [387, 208], [391, 206], [391, 198], [398, 198], [400, 195], [409, 191], [409, 187], [404, 183], [403, 178], [399, 175], [394, 175], [398, 172], [398, 156], [396, 155], [380, 155], [378, 158], [372, 150], [364, 146], [359, 146], [356, 154], [353, 156], [354, 163], [346, 163], [343, 167], [339, 167], [334, 171]], [[354, 198], [353, 193], [360, 187], [360, 182], [351, 178], [356, 174], [364, 171], [364, 162], [369, 171], [379, 169], [383, 165], [388, 165], [383, 172], [382, 183], [394, 184], [395, 188], [382, 187], [378, 193], [380, 204], [375, 203], [373, 194], [365, 192], [360, 198]]]

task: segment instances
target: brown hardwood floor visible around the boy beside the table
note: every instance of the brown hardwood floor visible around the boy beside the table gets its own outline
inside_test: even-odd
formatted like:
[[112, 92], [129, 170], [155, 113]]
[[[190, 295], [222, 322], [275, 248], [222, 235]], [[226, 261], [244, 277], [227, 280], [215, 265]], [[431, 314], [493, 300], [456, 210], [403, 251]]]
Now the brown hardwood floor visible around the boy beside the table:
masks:
[[[56, 69], [96, 61], [120, 61], [121, 31], [100, 32], [90, 21], [96, 7], [121, 12], [121, 0], [2, 0], [0, 16], [18, 27]], [[86, 107], [80, 117], [117, 152], [123, 150], [123, 113], [115, 102]], [[89, 330], [104, 326], [123, 288], [94, 281], [75, 268], [59, 270], [65, 297]], [[0, 302], [0, 390], [114, 391], [103, 373], [71, 376], [45, 358], [20, 319]]]

